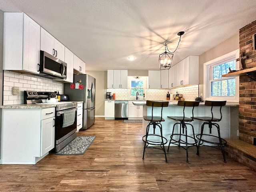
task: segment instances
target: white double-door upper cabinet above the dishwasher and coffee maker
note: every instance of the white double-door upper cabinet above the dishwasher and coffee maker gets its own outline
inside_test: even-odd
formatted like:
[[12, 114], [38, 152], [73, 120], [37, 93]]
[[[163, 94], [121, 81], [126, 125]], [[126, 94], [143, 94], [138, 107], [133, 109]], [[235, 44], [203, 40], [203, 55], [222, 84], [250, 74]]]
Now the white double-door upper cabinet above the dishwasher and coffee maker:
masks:
[[127, 89], [128, 70], [108, 70], [108, 88]]

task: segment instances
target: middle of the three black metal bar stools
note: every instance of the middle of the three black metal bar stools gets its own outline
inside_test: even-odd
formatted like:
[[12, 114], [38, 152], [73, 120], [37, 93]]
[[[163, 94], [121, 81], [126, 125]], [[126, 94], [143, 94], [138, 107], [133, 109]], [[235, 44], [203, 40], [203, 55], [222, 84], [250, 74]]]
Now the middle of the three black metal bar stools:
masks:
[[[171, 140], [169, 142], [168, 146], [168, 152], [170, 148], [170, 144], [175, 144], [180, 146], [180, 144], [186, 145], [186, 148], [184, 146], [180, 146], [186, 150], [187, 155], [187, 163], [188, 163], [188, 148], [191, 146], [196, 146], [197, 148], [197, 140], [194, 132], [194, 127], [189, 122], [192, 122], [194, 120], [194, 107], [197, 107], [199, 105], [200, 101], [178, 101], [178, 106], [183, 106], [183, 116], [167, 116], [168, 118], [171, 118], [172, 120], [179, 121], [173, 125], [172, 134], [170, 136]], [[192, 107], [190, 108], [192, 112], [192, 117], [186, 117], [185, 116], [185, 107]], [[174, 129], [176, 125], [180, 125], [180, 130], [178, 134], [174, 134]], [[192, 127], [193, 135], [188, 135], [187, 125], [190, 125]], [[182, 133], [181, 133], [182, 128]], [[184, 133], [185, 129], [185, 133]], [[178, 136], [178, 139], [174, 139], [174, 136]], [[192, 138], [192, 141], [188, 141], [188, 138]]]

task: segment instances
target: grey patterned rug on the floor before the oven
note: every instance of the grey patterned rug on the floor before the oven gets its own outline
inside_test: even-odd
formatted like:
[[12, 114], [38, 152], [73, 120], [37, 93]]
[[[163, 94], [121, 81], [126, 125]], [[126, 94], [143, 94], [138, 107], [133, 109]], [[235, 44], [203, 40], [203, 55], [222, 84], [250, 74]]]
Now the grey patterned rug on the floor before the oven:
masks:
[[84, 154], [89, 146], [92, 144], [95, 136], [79, 136], [74, 138], [64, 148], [62, 148], [57, 155], [80, 155]]

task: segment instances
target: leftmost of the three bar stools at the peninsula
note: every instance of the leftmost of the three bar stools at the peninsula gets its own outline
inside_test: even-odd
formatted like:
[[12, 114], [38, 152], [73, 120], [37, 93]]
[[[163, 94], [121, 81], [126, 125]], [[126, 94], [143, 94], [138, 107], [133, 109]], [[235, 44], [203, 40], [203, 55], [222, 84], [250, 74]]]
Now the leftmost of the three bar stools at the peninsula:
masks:
[[[144, 150], [143, 150], [142, 159], [144, 159], [146, 148], [156, 148], [154, 146], [160, 146], [161, 148], [156, 148], [156, 149], [160, 149], [164, 151], [165, 161], [167, 163], [167, 157], [166, 157], [166, 152], [164, 148], [164, 144], [167, 143], [167, 139], [163, 137], [161, 122], [165, 121], [164, 118], [162, 118], [163, 107], [168, 107], [168, 105], [169, 105], [169, 102], [156, 102], [156, 101], [150, 101], [150, 100], [146, 101], [146, 106], [152, 107], [152, 110], [151, 110], [151, 116], [143, 116], [144, 120], [149, 121], [149, 123], [146, 127], [146, 135], [142, 137], [142, 140], [144, 141]], [[154, 116], [153, 112], [154, 113], [158, 112], [160, 107], [161, 107], [161, 116]], [[158, 126], [158, 128], [160, 129], [160, 135], [156, 134], [155, 132], [156, 126]], [[153, 128], [153, 134], [152, 132], [150, 132], [150, 128]], [[159, 140], [159, 138], [161, 138], [161, 140]]]

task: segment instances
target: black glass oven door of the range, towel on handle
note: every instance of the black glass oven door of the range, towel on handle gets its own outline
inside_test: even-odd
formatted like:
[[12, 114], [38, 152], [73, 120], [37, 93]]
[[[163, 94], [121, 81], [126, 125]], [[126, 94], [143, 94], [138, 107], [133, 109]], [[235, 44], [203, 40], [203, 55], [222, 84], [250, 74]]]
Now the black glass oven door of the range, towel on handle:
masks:
[[[66, 120], [64, 120], [64, 114], [75, 110], [74, 123], [68, 126], [65, 126]], [[55, 122], [55, 140], [56, 145], [60, 144], [72, 134], [76, 132], [76, 116], [77, 116], [77, 108], [62, 110], [56, 112], [56, 122]]]

